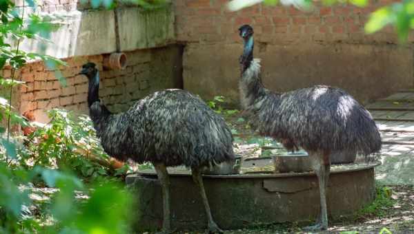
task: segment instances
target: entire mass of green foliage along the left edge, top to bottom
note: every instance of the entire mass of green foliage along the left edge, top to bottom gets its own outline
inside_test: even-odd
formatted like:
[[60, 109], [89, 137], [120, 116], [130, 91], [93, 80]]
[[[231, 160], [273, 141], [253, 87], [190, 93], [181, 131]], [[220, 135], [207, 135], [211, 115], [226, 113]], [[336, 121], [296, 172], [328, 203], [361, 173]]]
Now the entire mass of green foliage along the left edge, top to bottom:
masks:
[[[32, 0], [23, 1], [24, 5], [36, 7]], [[68, 112], [54, 110], [50, 125], [38, 127], [28, 138], [10, 133], [12, 125], [33, 127], [11, 105], [13, 87], [24, 85], [14, 78], [15, 71], [34, 59], [43, 60], [50, 70], [66, 65], [19, 48], [23, 40], [38, 40], [46, 48], [50, 32], [57, 26], [50, 16], [24, 14], [25, 9], [14, 8], [14, 1], [0, 1], [0, 70], [8, 67], [12, 71], [10, 77], [0, 76], [2, 90], [10, 91], [0, 96], [0, 233], [128, 233], [130, 199], [125, 189], [103, 177], [83, 184], [71, 171], [88, 178], [109, 173], [108, 165], [83, 156], [87, 152], [107, 157], [86, 117], [75, 120]], [[66, 85], [59, 70], [55, 76]], [[56, 188], [39, 207], [33, 202], [37, 189], [33, 184]]]

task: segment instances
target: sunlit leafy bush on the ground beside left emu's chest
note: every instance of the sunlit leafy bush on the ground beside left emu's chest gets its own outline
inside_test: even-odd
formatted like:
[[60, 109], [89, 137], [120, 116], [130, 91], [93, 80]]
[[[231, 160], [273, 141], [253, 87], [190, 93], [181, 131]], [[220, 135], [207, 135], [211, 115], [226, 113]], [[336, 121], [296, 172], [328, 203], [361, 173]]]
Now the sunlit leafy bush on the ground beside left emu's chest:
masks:
[[94, 180], [102, 175], [123, 175], [127, 166], [112, 169], [110, 157], [103, 151], [86, 115], [72, 111], [48, 111], [50, 123], [37, 127], [21, 149], [21, 165], [71, 169], [82, 178]]

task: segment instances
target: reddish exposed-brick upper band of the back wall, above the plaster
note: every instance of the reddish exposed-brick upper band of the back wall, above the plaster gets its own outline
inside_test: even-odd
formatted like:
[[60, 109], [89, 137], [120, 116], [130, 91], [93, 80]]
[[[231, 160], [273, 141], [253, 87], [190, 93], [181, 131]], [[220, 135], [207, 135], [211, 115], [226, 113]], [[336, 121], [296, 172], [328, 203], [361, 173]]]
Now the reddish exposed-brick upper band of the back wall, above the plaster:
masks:
[[[228, 0], [177, 0], [175, 3], [177, 41], [199, 43], [240, 43], [237, 29], [248, 23], [255, 40], [286, 44], [306, 42], [396, 43], [392, 28], [373, 35], [364, 34], [369, 13], [389, 0], [370, 2], [366, 8], [350, 4], [322, 6], [311, 12], [293, 7], [258, 4], [238, 12], [226, 11]], [[413, 41], [414, 37], [410, 37]]]

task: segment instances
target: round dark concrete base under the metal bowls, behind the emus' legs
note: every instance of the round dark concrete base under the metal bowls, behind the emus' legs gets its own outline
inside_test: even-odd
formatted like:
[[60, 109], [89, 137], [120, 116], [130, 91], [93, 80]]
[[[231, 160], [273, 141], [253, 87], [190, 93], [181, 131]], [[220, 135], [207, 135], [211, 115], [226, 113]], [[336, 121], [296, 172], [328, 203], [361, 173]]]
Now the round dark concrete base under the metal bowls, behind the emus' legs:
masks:
[[[331, 218], [350, 215], [373, 201], [376, 165], [333, 167], [327, 193]], [[169, 172], [172, 228], [206, 228], [204, 206], [189, 172]], [[313, 221], [319, 213], [319, 189], [313, 172], [204, 175], [203, 178], [213, 218], [224, 229]], [[126, 183], [136, 195], [132, 208], [135, 230], [161, 228], [162, 195], [157, 175], [152, 171], [131, 174]]]

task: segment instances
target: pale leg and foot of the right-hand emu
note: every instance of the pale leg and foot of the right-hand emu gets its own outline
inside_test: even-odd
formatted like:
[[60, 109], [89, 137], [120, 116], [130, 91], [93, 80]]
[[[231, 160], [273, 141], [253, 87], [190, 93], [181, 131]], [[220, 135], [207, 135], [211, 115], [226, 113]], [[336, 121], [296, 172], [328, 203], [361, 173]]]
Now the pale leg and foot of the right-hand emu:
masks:
[[329, 173], [331, 172], [331, 162], [329, 153], [324, 152], [323, 155], [317, 153], [309, 153], [312, 167], [317, 175], [319, 184], [319, 199], [321, 210], [317, 223], [313, 226], [304, 228], [307, 231], [325, 230], [328, 228], [328, 211], [326, 208], [326, 189], [328, 187]]

